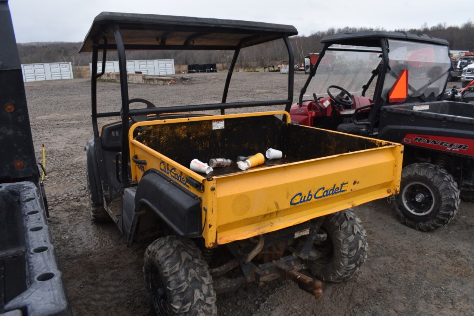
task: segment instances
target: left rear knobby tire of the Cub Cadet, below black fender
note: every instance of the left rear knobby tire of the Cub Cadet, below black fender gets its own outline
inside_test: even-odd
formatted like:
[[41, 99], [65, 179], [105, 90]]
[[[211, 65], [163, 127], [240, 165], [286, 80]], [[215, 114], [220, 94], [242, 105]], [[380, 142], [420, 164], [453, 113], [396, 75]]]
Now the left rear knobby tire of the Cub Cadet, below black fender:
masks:
[[217, 315], [208, 264], [191, 240], [155, 240], [146, 248], [143, 275], [153, 315]]

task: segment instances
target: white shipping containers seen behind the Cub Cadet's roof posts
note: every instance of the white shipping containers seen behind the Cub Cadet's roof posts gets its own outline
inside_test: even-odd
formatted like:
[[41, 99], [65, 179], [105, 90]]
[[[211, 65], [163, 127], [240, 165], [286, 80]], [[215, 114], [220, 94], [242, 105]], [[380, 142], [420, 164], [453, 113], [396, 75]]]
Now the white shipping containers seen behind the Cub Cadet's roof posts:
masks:
[[[89, 63], [92, 73], [92, 63]], [[97, 72], [102, 72], [102, 62], [97, 62]], [[105, 72], [119, 72], [118, 61], [106, 61]], [[164, 76], [174, 74], [174, 59], [128, 60], [127, 73], [142, 72], [147, 75]]]

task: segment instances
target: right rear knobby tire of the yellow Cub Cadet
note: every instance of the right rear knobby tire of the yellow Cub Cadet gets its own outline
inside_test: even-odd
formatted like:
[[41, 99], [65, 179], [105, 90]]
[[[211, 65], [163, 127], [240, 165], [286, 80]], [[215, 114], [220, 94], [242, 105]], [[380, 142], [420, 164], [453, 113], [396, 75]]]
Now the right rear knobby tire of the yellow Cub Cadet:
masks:
[[367, 259], [367, 240], [361, 221], [351, 209], [330, 214], [321, 229], [326, 241], [315, 242], [320, 257], [308, 261], [310, 273], [322, 281], [341, 282], [354, 276]]

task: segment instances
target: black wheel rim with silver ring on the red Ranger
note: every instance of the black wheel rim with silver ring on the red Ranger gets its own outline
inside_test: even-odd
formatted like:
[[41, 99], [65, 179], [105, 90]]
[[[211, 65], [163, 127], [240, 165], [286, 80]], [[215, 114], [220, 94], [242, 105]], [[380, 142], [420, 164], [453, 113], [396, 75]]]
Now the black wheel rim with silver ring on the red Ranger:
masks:
[[421, 182], [407, 184], [401, 194], [403, 206], [416, 216], [425, 216], [433, 211], [435, 206], [433, 196], [433, 191]]

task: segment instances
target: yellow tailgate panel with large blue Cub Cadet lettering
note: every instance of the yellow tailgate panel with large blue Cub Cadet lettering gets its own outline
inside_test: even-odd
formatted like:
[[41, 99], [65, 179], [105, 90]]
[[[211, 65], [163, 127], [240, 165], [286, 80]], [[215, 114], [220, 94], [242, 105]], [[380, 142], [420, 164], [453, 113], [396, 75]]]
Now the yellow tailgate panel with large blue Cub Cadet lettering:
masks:
[[381, 147], [217, 178], [218, 243], [391, 195], [400, 186], [393, 147], [400, 152]]

